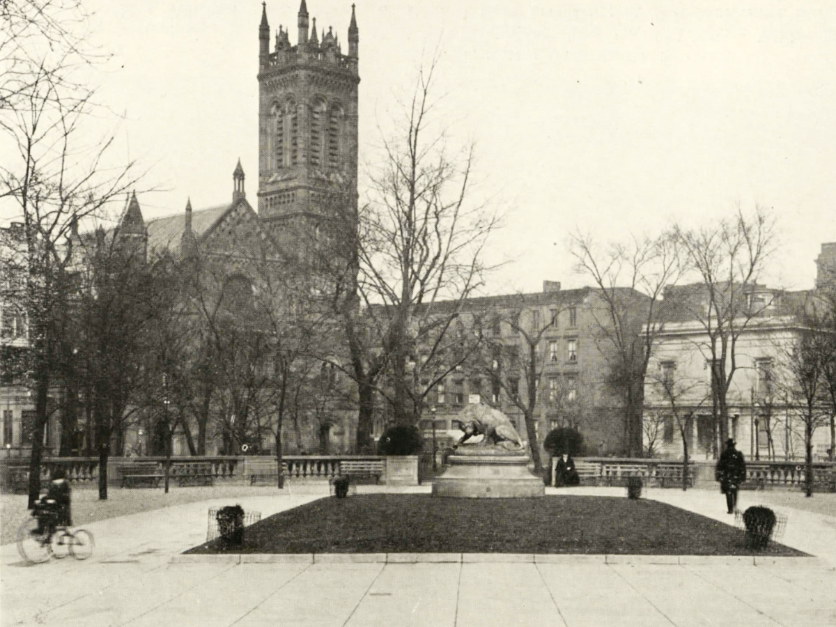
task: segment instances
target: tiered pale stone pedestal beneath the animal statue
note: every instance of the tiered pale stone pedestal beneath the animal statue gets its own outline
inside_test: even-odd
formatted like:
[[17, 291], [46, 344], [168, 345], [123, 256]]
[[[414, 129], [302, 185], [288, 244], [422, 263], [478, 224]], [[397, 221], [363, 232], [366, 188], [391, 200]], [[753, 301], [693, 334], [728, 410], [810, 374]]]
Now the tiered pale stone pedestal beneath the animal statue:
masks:
[[434, 497], [542, 497], [543, 479], [528, 472], [528, 455], [472, 446], [447, 457], [449, 467], [432, 482]]

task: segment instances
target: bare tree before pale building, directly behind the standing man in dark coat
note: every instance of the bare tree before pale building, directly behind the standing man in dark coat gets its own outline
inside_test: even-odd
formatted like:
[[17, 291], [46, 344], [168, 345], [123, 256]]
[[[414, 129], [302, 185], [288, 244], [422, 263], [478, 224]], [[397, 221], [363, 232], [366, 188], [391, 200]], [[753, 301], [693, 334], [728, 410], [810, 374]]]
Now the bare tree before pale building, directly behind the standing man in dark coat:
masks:
[[715, 456], [718, 441], [728, 437], [727, 395], [739, 367], [737, 340], [770, 304], [758, 305], [753, 294], [773, 251], [773, 229], [772, 218], [760, 207], [751, 216], [738, 210], [734, 217], [711, 227], [675, 227], [675, 241], [700, 279], [696, 289], [679, 293], [676, 299], [706, 334], [700, 349], [711, 369]]

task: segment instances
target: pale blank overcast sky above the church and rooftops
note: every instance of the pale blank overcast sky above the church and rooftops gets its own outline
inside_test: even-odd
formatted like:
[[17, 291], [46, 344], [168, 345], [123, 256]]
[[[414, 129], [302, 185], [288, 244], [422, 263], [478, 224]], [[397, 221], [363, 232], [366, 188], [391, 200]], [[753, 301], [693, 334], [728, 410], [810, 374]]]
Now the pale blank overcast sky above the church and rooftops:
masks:
[[[308, 0], [348, 48], [352, 0]], [[491, 293], [573, 272], [567, 232], [600, 240], [672, 220], [772, 207], [772, 283], [813, 285], [836, 241], [836, 4], [354, 0], [361, 168], [441, 50], [441, 106], [477, 143], [482, 195], [505, 212]], [[88, 0], [114, 54], [99, 98], [125, 114], [120, 150], [150, 167], [145, 217], [231, 198], [240, 157], [257, 191], [258, 0]], [[269, 0], [296, 43], [298, 2]], [[360, 190], [362, 194], [362, 189]]]

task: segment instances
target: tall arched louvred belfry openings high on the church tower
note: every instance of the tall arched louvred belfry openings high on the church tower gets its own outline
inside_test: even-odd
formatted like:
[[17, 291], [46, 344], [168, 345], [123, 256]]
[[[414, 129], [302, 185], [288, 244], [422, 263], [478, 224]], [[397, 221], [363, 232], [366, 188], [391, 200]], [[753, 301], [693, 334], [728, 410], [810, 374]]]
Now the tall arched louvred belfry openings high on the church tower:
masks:
[[[316, 168], [339, 168], [345, 161], [345, 110], [341, 104], [315, 99], [308, 106], [307, 163]], [[304, 155], [300, 141], [302, 110], [293, 100], [273, 104], [267, 130], [267, 169], [298, 166]]]

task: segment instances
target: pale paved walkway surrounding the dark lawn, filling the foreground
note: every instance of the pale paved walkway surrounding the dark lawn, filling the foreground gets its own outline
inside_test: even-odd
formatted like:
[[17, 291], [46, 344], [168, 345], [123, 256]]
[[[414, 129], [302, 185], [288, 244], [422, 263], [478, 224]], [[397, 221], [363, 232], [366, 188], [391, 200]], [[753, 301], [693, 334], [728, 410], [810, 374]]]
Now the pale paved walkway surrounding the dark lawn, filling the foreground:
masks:
[[[624, 496], [619, 488], [547, 492]], [[234, 500], [266, 517], [321, 496]], [[733, 523], [716, 491], [650, 489], [644, 497]], [[206, 539], [206, 509], [230, 501], [90, 523], [85, 528], [96, 548], [85, 562], [27, 566], [14, 545], [3, 546], [0, 624], [836, 625], [836, 516], [774, 507], [788, 517], [782, 542], [816, 558], [757, 565], [752, 558], [608, 563], [594, 556], [502, 555], [455, 563], [172, 562]], [[740, 506], [760, 502], [769, 502], [768, 492], [743, 492]]]

